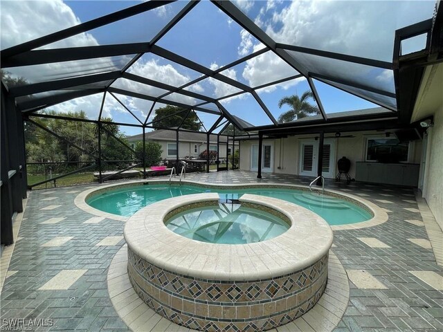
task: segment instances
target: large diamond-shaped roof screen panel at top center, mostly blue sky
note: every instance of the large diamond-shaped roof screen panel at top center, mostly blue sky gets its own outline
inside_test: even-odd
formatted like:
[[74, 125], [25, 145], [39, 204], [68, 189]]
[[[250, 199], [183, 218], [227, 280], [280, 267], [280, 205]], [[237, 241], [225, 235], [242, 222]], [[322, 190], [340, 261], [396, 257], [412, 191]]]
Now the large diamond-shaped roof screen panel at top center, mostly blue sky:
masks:
[[200, 1], [157, 44], [216, 69], [253, 53], [253, 44], [260, 44], [242, 30], [213, 3]]

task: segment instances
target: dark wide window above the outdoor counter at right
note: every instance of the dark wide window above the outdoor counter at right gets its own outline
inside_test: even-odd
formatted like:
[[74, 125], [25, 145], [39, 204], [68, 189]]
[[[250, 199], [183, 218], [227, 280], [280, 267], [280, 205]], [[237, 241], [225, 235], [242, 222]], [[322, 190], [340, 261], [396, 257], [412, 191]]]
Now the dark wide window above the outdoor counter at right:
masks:
[[408, 152], [409, 142], [399, 142], [397, 138], [368, 138], [366, 141], [366, 161], [407, 162]]

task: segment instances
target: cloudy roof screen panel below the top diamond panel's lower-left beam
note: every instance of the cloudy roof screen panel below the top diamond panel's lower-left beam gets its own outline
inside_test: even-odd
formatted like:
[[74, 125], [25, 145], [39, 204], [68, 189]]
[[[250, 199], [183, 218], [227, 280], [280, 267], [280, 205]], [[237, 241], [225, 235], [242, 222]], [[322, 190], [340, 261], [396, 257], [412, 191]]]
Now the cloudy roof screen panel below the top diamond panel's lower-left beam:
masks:
[[183, 86], [202, 75], [153, 53], [145, 53], [127, 72], [172, 86]]

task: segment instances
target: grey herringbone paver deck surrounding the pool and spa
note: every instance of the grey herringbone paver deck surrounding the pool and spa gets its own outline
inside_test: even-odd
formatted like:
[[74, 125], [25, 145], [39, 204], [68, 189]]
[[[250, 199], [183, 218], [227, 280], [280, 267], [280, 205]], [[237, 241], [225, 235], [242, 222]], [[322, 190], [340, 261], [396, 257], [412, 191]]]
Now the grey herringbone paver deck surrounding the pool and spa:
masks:
[[[299, 185], [308, 185], [311, 181], [310, 178], [298, 176], [263, 176], [264, 178], [257, 180], [253, 172], [229, 171], [188, 174], [186, 179], [202, 183], [260, 182]], [[1, 277], [6, 277], [0, 297], [1, 324], [12, 319], [37, 318], [51, 319], [52, 326], [40, 326], [36, 331], [130, 330], [127, 325], [129, 323], [120, 318], [113, 306], [118, 295], [110, 295], [108, 291], [108, 272], [112, 272], [109, 271], [109, 266], [125, 241], [111, 246], [96, 246], [109, 237], [121, 237], [125, 223], [111, 219], [102, 219], [100, 222], [92, 219], [96, 221], [92, 223], [91, 218], [95, 216], [80, 210], [73, 203], [75, 196], [87, 187], [91, 185], [77, 186], [75, 190], [65, 187], [30, 192], [18, 232], [21, 239], [15, 243], [14, 248], [3, 250], [3, 253], [13, 250], [12, 255], [1, 257]], [[426, 227], [423, 227], [424, 219], [420, 213], [423, 202], [420, 201], [420, 205], [417, 205], [413, 190], [404, 187], [362, 183], [346, 185], [343, 182], [330, 181], [327, 181], [326, 187], [343, 190], [346, 194], [368, 195], [364, 198], [389, 211], [388, 221], [381, 225], [334, 230], [332, 248], [345, 270], [369, 273], [386, 289], [358, 288], [349, 282], [350, 300], [347, 302], [340, 295], [343, 285], [335, 284], [334, 287], [329, 287], [324, 306], [332, 311], [334, 302], [339, 302], [339, 299], [347, 303], [345, 314], [336, 320], [338, 324], [323, 320], [321, 311], [313, 311], [300, 324], [294, 324], [293, 330], [287, 326], [289, 330], [281, 331], [322, 331], [331, 327], [331, 324], [336, 324], [334, 331], [442, 331], [443, 292], [436, 289], [433, 282], [424, 282], [420, 277], [426, 274], [416, 271], [432, 271], [442, 277], [443, 267], [437, 264], [433, 248], [424, 248], [408, 240], [427, 239], [433, 244], [439, 243], [440, 238], [440, 243], [443, 243], [441, 230], [433, 227], [430, 239]], [[57, 200], [43, 201], [48, 198], [48, 194], [51, 197], [57, 196]], [[56, 202], [57, 208], [42, 210], [53, 202]], [[428, 213], [427, 211], [426, 214]], [[44, 223], [54, 220], [53, 218], [64, 219], [57, 223]], [[42, 246], [55, 237], [72, 238], [62, 246]], [[372, 248], [359, 238], [374, 238], [390, 248]], [[440, 247], [434, 249], [441, 250]], [[7, 256], [10, 256], [8, 269], [5, 268]], [[66, 290], [39, 290], [62, 270], [85, 271]], [[124, 281], [114, 275], [113, 282]], [[124, 295], [123, 299], [128, 301]], [[132, 301], [133, 306], [138, 304], [136, 297]], [[128, 304], [125, 305], [127, 306]], [[138, 306], [134, 310], [136, 308]], [[138, 311], [142, 310], [143, 308], [138, 308]], [[152, 331], [171, 331], [169, 322], [157, 319], [154, 315], [134, 317], [130, 326], [153, 326]]]

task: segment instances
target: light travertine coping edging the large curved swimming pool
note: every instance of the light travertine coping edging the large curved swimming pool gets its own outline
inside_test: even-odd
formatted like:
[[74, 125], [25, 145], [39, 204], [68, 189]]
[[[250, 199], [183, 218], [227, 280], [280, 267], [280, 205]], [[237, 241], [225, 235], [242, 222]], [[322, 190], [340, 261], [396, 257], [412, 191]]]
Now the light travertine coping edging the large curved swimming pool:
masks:
[[[95, 216], [103, 216], [105, 218], [118, 220], [118, 221], [127, 221], [129, 219], [129, 217], [118, 216], [117, 214], [111, 214], [111, 213], [97, 210], [95, 208], [92, 208], [90, 205], [88, 205], [86, 203], [86, 200], [90, 195], [97, 194], [98, 192], [105, 192], [107, 190], [116, 190], [119, 187], [130, 187], [132, 185], [143, 185], [143, 183], [152, 183], [154, 185], [156, 185], [156, 184], [169, 185], [170, 184], [169, 181], [165, 181], [163, 179], [163, 180], [136, 180], [136, 181], [127, 181], [124, 183], [116, 183], [116, 184], [114, 183], [111, 185], [100, 185], [96, 188], [92, 188], [89, 190], [85, 190], [84, 192], [80, 192], [80, 194], [78, 194], [78, 196], [75, 197], [74, 203], [75, 203], [75, 205], [77, 205], [78, 208], [80, 208], [86, 212], [89, 212], [90, 214], [93, 214]], [[179, 181], [171, 181], [171, 183], [173, 185], [178, 185]], [[266, 183], [266, 184], [263, 184], [263, 183], [219, 184], [219, 183], [217, 183], [217, 185], [211, 185], [208, 183], [199, 183], [197, 181], [181, 181], [181, 184], [196, 185], [198, 187], [208, 187], [213, 190], [216, 188], [238, 189], [238, 188], [255, 188], [255, 187], [256, 188], [266, 188], [266, 187], [282, 188], [282, 189], [294, 189], [294, 190], [305, 190], [305, 191], [309, 190], [309, 188], [307, 186], [303, 186], [303, 185], [288, 185], [288, 184], [278, 184], [278, 183]], [[378, 205], [371, 203], [370, 201], [368, 201], [366, 199], [363, 199], [358, 196], [354, 196], [352, 194], [340, 192], [338, 190], [325, 189], [325, 194], [327, 196], [334, 196], [339, 199], [346, 199], [347, 201], [350, 201], [351, 203], [355, 203], [357, 205], [360, 205], [361, 208], [365, 208], [373, 216], [372, 219], [370, 219], [368, 221], [361, 221], [359, 223], [351, 223], [351, 224], [347, 224], [347, 225], [331, 225], [330, 227], [332, 228], [332, 230], [357, 230], [360, 228], [367, 228], [367, 227], [372, 227], [375, 225], [380, 225], [381, 223], [388, 221], [388, 214], [386, 213], [386, 211], [383, 210], [382, 208], [379, 208]]]

